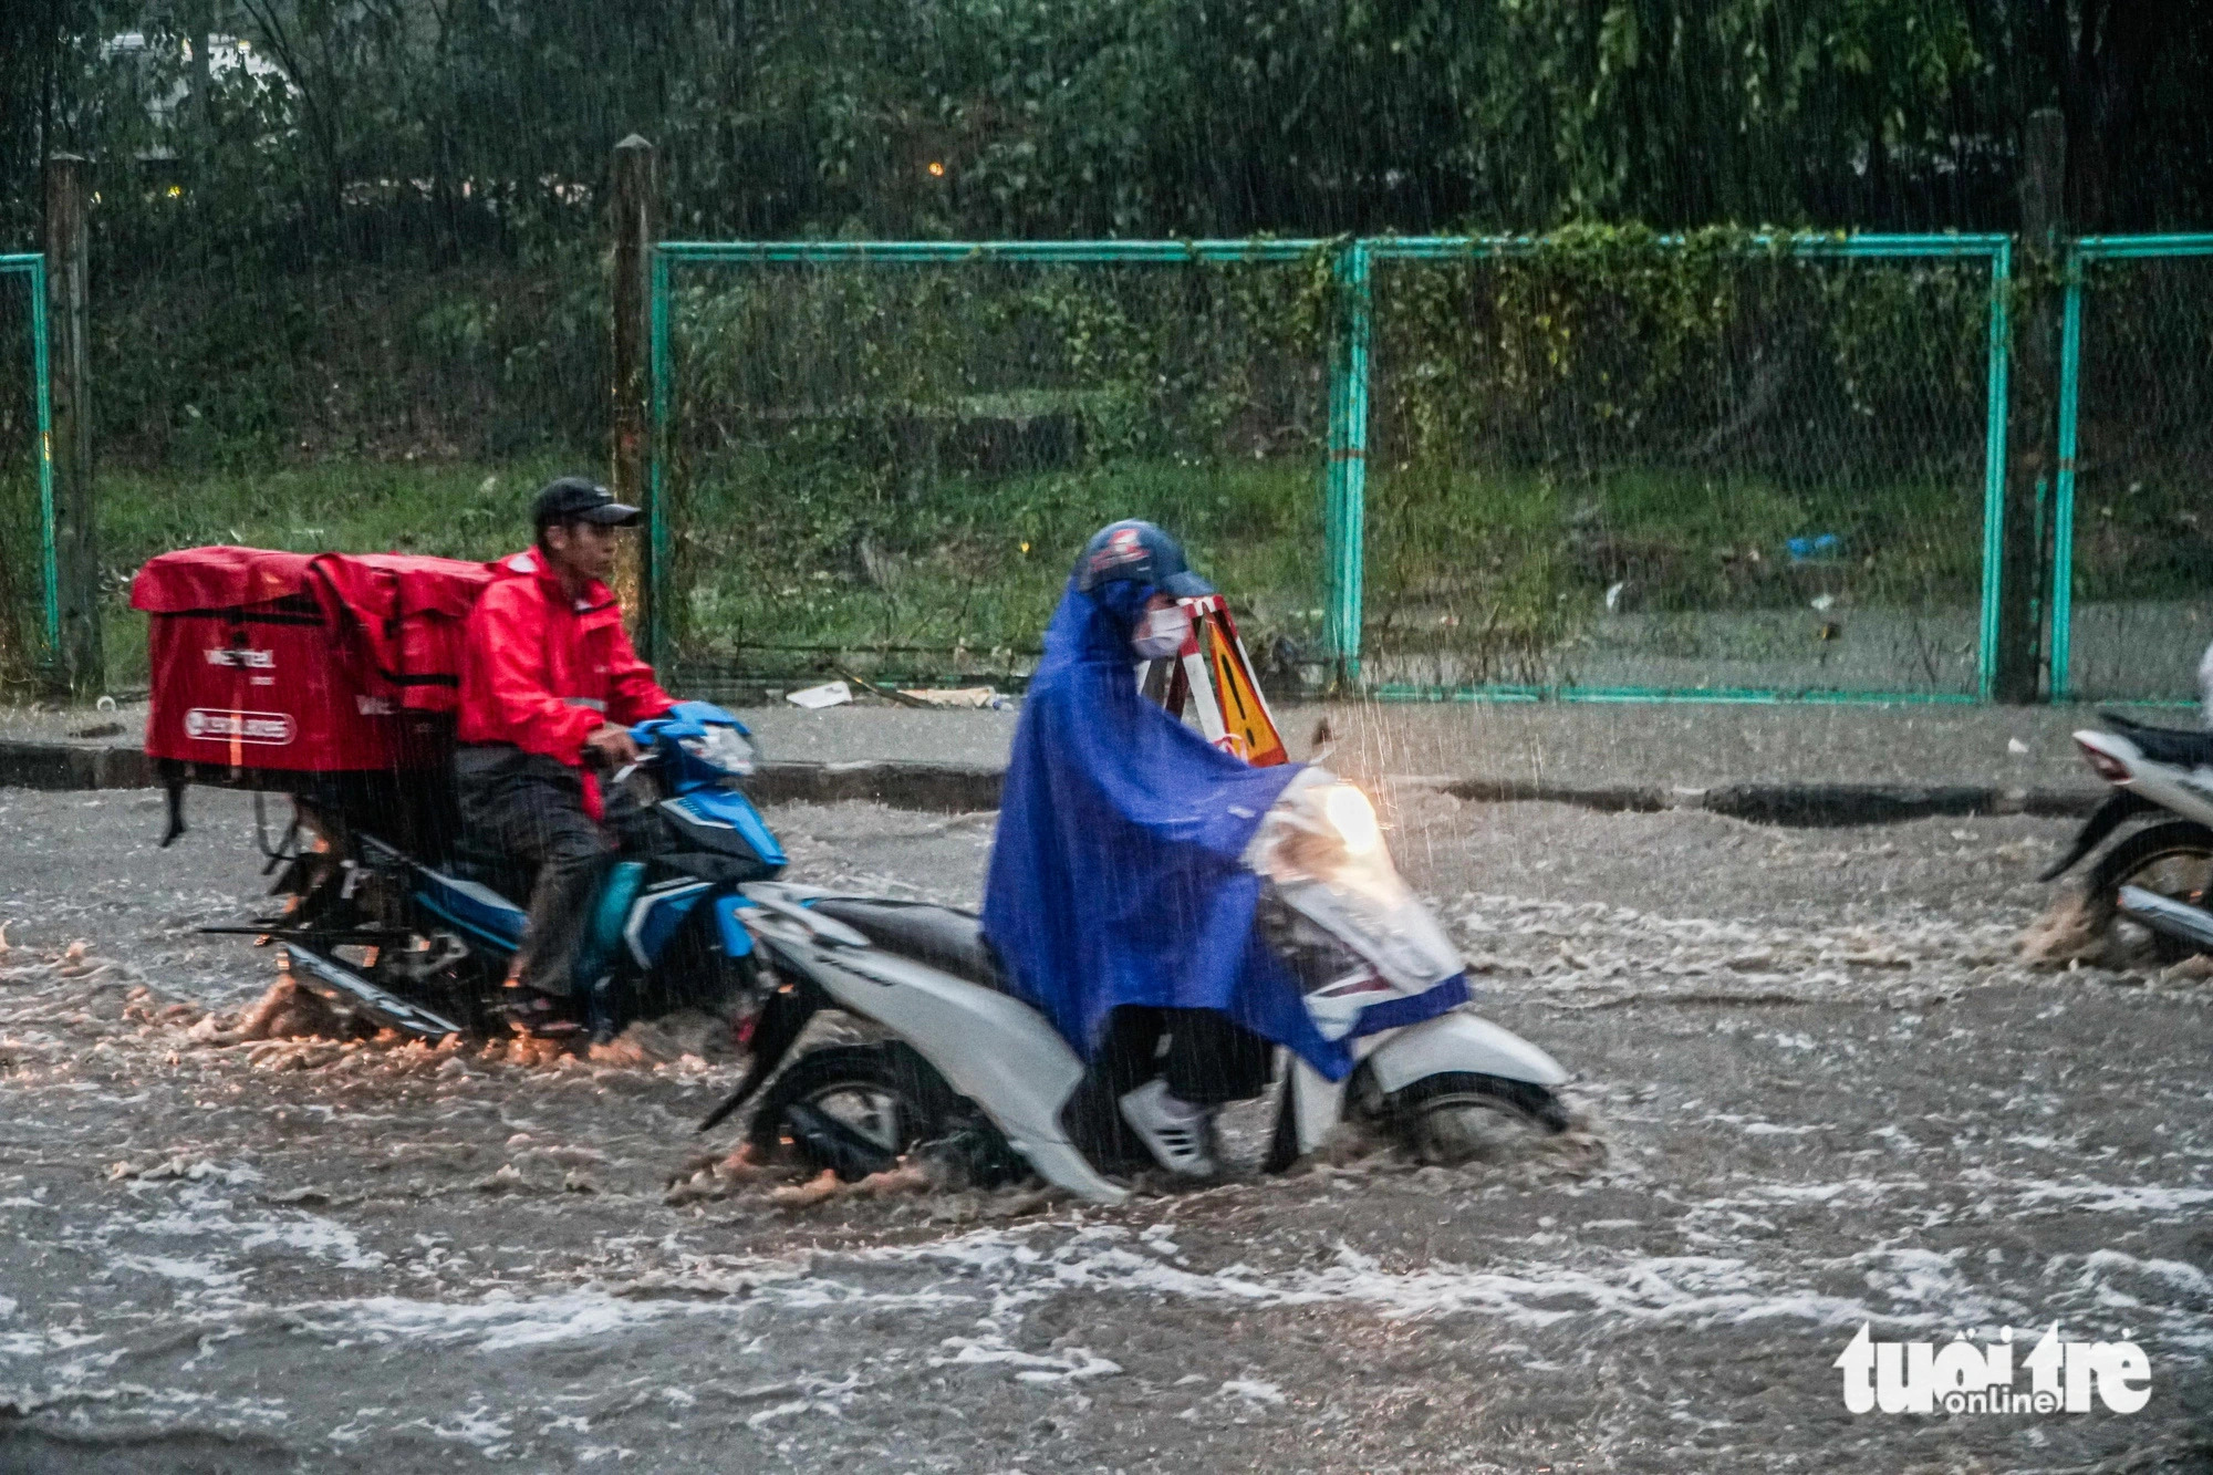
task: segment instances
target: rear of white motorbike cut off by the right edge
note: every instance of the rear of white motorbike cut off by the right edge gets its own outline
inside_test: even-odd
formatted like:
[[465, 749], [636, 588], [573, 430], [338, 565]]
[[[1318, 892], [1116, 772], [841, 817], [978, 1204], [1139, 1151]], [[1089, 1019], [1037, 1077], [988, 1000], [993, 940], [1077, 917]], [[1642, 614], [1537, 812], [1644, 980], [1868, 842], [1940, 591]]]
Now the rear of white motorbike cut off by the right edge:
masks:
[[2087, 928], [2160, 966], [2213, 952], [2213, 733], [2098, 720], [2109, 731], [2074, 740], [2113, 793], [2036, 879], [2056, 881], [2127, 831], [2085, 877]]

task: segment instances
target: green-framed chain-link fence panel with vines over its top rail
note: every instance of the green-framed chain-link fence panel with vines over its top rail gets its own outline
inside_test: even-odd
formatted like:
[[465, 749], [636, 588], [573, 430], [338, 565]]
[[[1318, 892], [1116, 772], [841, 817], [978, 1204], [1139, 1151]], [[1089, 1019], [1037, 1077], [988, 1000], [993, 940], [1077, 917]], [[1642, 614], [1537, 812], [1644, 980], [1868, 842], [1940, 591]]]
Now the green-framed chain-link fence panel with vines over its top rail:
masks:
[[1368, 250], [1368, 684], [1983, 691], [2001, 239]]

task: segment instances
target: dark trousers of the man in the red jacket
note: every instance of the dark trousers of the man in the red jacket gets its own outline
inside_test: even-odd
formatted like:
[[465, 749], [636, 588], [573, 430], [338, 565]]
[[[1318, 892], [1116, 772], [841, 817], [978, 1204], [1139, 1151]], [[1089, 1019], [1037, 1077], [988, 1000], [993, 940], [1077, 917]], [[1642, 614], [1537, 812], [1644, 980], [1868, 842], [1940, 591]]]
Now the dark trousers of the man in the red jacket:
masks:
[[626, 791], [606, 788], [604, 819], [584, 813], [584, 775], [569, 764], [509, 744], [454, 753], [463, 850], [536, 868], [529, 924], [509, 977], [569, 997], [575, 952], [591, 926], [591, 904], [617, 855], [651, 846], [653, 815]]

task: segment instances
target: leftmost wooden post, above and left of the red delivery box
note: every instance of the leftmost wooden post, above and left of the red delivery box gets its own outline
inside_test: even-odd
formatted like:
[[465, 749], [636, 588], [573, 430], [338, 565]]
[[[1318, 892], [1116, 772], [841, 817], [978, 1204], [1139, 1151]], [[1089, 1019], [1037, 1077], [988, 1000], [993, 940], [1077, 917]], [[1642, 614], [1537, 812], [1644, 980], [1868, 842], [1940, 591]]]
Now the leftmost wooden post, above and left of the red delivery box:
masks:
[[84, 159], [46, 159], [46, 323], [53, 365], [53, 540], [60, 574], [62, 649], [55, 682], [97, 695], [106, 684], [100, 644], [100, 525], [93, 507], [91, 343], [86, 239], [91, 190]]

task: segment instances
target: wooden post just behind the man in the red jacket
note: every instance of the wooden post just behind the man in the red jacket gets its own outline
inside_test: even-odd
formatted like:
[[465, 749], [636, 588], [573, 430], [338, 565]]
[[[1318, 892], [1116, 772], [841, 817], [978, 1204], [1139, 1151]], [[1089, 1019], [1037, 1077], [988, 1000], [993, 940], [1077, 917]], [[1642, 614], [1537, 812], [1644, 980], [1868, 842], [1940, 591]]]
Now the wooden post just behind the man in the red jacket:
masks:
[[[613, 202], [613, 281], [609, 299], [613, 303], [615, 328], [615, 414], [613, 414], [613, 476], [609, 485], [615, 496], [633, 507], [646, 507], [653, 518], [659, 509], [651, 505], [646, 492], [646, 436], [651, 434], [651, 385], [648, 365], [653, 290], [648, 281], [653, 264], [653, 241], [657, 237], [657, 190], [653, 186], [653, 144], [635, 133], [615, 144], [615, 202]], [[653, 649], [666, 625], [668, 611], [653, 607], [653, 591], [664, 587], [666, 569], [653, 567], [655, 545], [666, 547], [666, 538], [655, 538], [655, 527], [640, 527], [624, 554], [626, 591], [635, 591], [633, 625], [644, 636], [646, 660], [664, 660], [666, 651]]]

